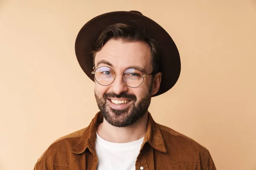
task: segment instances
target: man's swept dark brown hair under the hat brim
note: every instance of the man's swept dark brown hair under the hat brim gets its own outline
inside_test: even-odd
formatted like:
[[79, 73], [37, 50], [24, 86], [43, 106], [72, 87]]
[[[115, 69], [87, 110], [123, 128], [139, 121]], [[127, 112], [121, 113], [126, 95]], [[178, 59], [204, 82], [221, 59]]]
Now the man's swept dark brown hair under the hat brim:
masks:
[[128, 42], [132, 41], [144, 41], [147, 42], [151, 49], [153, 75], [160, 72], [160, 57], [158, 43], [145, 34], [145, 29], [140, 26], [131, 26], [122, 23], [116, 23], [106, 27], [100, 34], [98, 40], [93, 46], [93, 65], [95, 55], [97, 51], [100, 51], [108, 40], [124, 40]]

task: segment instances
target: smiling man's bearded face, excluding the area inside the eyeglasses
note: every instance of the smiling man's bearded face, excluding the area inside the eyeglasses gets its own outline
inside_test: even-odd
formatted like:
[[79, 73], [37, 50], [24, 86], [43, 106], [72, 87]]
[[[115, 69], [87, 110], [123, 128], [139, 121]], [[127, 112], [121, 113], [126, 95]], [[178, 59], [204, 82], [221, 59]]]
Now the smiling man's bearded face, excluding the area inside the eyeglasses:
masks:
[[96, 101], [109, 124], [127, 127], [147, 113], [151, 101], [152, 75], [145, 77], [136, 88], [129, 87], [122, 79], [122, 73], [128, 68], [140, 69], [144, 75], [152, 72], [150, 47], [146, 42], [109, 40], [96, 53], [95, 67], [109, 67], [116, 73], [110, 85], [100, 85], [95, 81]]

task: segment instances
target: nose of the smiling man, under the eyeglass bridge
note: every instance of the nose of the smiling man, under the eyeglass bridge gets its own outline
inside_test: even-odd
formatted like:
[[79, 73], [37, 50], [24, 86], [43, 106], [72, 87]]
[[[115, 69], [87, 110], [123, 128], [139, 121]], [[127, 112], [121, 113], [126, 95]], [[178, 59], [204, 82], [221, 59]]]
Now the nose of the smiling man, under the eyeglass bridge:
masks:
[[116, 74], [116, 78], [111, 84], [111, 91], [115, 94], [121, 94], [124, 91], [128, 91], [128, 86], [123, 81], [122, 74]]

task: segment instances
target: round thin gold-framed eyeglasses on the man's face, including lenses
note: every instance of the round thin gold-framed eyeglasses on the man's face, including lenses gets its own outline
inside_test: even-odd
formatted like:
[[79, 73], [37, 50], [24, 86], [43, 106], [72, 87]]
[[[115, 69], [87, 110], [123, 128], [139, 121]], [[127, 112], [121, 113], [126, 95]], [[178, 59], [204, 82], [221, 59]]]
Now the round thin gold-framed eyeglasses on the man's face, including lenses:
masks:
[[[100, 85], [110, 85], [116, 78], [115, 71], [109, 67], [99, 67], [95, 71], [93, 70], [91, 73], [94, 74], [95, 80]], [[129, 87], [137, 88], [143, 83], [144, 77], [148, 77], [150, 74], [143, 75], [140, 70], [135, 68], [128, 68], [123, 72], [122, 79]]]

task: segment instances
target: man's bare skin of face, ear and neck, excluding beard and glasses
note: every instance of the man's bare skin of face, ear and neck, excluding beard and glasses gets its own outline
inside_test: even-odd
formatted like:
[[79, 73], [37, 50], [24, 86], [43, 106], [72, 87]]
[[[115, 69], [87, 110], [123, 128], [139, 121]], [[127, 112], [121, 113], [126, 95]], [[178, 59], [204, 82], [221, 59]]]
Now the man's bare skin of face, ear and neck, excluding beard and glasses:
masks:
[[[104, 62], [100, 63], [102, 61]], [[111, 65], [106, 64], [106, 62], [110, 63]], [[127, 86], [122, 79], [122, 73], [129, 67], [139, 67], [141, 68], [141, 71], [144, 70], [143, 74], [149, 74], [152, 72], [153, 69], [151, 64], [150, 47], [146, 42], [124, 42], [123, 40], [109, 40], [102, 47], [101, 51], [96, 53], [95, 65], [96, 68], [106, 66], [112, 68], [116, 73], [121, 73], [116, 74], [116, 79], [111, 85], [103, 86], [95, 81], [95, 95], [99, 99], [103, 99], [103, 95], [105, 93], [112, 93], [117, 95], [126, 93], [135, 95], [137, 97], [136, 101], [131, 101], [134, 103], [130, 103], [137, 105], [137, 103], [140, 102], [146, 94], [149, 94], [149, 96], [154, 95], [160, 88], [161, 73], [155, 74], [154, 78], [152, 75], [144, 78], [142, 85], [137, 88], [131, 88]], [[152, 87], [151, 91], [149, 91], [150, 86]], [[111, 107], [111, 103], [109, 102], [106, 102], [106, 105], [107, 107]], [[128, 106], [128, 108], [129, 107], [130, 106]], [[127, 111], [127, 114], [128, 113], [130, 112]], [[122, 121], [125, 116], [127, 116], [125, 114], [116, 116], [112, 111], [109, 111], [108, 114], [116, 121]], [[145, 136], [147, 122], [147, 111], [135, 123], [126, 127], [115, 127], [104, 119], [103, 122], [97, 126], [97, 133], [100, 137], [109, 142], [133, 142]]]

